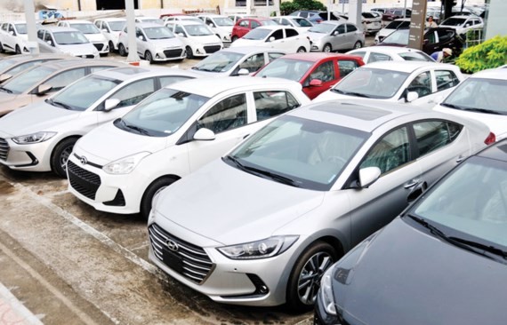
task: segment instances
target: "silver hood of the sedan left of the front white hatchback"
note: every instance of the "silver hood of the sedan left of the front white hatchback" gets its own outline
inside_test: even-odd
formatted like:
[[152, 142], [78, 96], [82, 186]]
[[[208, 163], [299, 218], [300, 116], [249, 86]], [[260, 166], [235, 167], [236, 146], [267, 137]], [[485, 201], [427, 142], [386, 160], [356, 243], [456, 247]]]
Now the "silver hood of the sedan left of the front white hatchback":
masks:
[[55, 131], [55, 126], [75, 119], [81, 112], [54, 107], [44, 101], [21, 107], [0, 118], [0, 132], [11, 137]]

